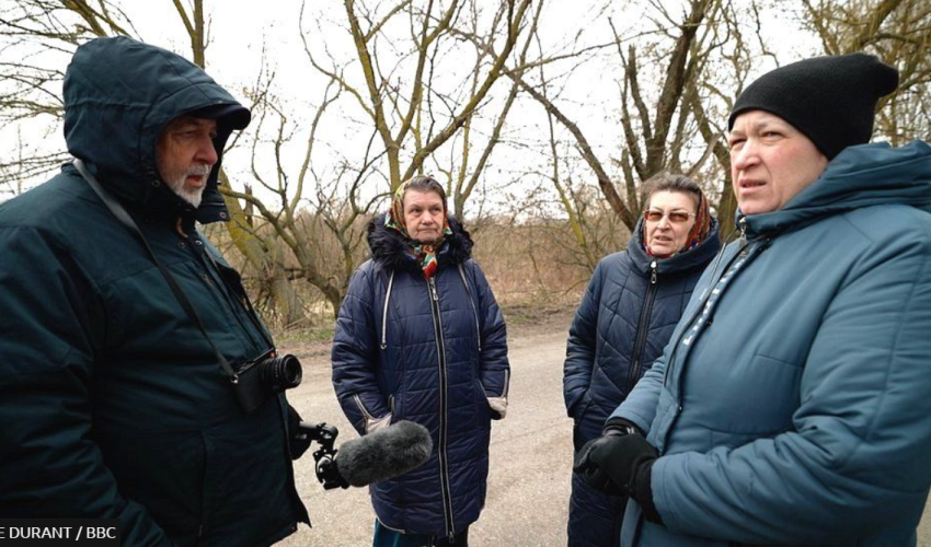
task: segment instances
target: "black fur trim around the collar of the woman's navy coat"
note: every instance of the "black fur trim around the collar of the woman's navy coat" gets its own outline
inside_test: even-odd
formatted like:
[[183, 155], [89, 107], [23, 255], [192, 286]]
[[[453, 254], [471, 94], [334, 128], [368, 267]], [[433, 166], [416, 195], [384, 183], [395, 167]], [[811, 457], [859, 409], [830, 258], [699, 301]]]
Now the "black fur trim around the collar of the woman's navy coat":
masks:
[[[384, 225], [384, 214], [368, 222], [368, 246], [378, 265], [394, 269], [419, 271], [421, 266], [411, 255], [411, 247], [396, 230]], [[437, 253], [437, 266], [442, 269], [464, 263], [472, 257], [472, 237], [452, 216], [449, 217], [452, 235], [447, 235]]]

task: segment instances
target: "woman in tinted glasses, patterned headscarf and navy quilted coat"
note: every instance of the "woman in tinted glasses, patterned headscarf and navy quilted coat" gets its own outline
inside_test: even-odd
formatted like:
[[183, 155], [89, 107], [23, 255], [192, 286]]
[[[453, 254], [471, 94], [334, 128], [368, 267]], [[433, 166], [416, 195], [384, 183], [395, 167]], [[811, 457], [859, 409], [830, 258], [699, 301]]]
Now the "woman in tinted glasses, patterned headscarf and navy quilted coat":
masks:
[[[628, 249], [605, 257], [576, 312], [563, 377], [575, 451], [663, 353], [721, 243], [701, 188], [680, 175], [647, 182], [644, 219]], [[568, 544], [613, 546], [627, 498], [606, 496], [573, 474]]]

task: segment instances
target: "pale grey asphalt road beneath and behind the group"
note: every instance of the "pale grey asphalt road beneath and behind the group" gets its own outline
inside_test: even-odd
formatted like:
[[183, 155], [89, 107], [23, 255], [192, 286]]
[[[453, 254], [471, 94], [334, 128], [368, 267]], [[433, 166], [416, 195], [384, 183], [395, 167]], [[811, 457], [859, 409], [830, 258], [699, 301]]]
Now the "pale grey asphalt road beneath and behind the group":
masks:
[[[565, 336], [565, 330], [549, 329], [509, 341], [513, 380], [508, 414], [492, 429], [489, 497], [481, 519], [469, 532], [473, 547], [565, 545], [572, 465], [571, 421], [562, 400]], [[329, 356], [301, 357], [304, 381], [289, 394], [291, 404], [306, 421], [335, 424], [341, 432], [337, 444], [355, 438], [330, 383]], [[371, 545], [375, 513], [367, 489], [324, 491], [310, 452], [296, 463], [296, 473], [313, 528], [301, 526], [279, 546]], [[931, 547], [931, 505], [924, 513], [918, 545]]]

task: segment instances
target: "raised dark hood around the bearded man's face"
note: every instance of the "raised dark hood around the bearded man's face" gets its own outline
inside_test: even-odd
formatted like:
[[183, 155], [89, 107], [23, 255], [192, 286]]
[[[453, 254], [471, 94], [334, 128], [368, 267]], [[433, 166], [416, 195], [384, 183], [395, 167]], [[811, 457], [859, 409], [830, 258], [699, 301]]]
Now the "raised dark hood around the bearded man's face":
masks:
[[[214, 146], [219, 160], [195, 213], [159, 176], [156, 143], [172, 119], [210, 107], [227, 114], [217, 119]], [[108, 190], [149, 211], [195, 213], [202, 223], [227, 220], [217, 174], [227, 139], [248, 123], [249, 110], [199, 67], [130, 38], [83, 44], [65, 74], [68, 151]]]

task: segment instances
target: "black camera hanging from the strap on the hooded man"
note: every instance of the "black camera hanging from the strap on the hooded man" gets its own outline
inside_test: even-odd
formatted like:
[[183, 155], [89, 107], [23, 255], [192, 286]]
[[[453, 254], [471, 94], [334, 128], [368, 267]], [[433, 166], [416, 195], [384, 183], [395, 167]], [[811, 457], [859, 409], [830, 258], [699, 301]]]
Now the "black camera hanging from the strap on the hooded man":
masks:
[[245, 414], [252, 414], [272, 395], [300, 385], [303, 370], [298, 358], [278, 356], [273, 348], [239, 368], [233, 392]]

